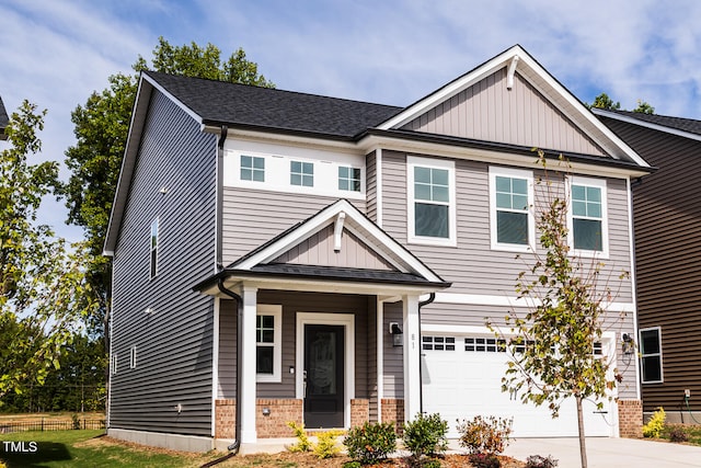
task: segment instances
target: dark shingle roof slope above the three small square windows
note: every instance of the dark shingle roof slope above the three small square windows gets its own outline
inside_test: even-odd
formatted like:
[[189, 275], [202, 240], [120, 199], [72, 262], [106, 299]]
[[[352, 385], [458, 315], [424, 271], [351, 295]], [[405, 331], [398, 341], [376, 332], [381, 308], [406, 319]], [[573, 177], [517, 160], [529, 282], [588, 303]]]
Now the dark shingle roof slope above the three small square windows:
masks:
[[352, 139], [402, 107], [222, 81], [146, 72], [205, 124]]

